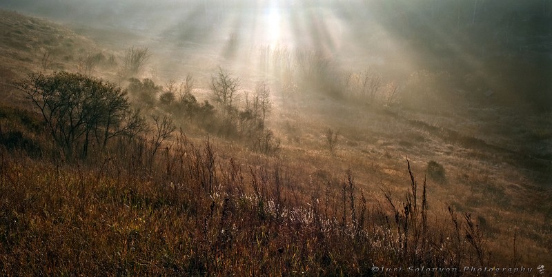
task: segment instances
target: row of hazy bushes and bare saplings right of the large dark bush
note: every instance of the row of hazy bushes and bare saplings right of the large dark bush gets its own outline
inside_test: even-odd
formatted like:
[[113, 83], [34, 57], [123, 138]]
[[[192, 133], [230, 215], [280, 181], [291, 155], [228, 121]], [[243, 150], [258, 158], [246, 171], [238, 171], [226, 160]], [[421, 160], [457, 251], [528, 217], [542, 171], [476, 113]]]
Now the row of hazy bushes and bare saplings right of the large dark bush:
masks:
[[[128, 91], [133, 102], [147, 112], [170, 114], [177, 122], [195, 124], [204, 130], [238, 139], [263, 154], [275, 154], [279, 141], [266, 128], [272, 102], [270, 88], [264, 82], [255, 85], [253, 93], [242, 90], [241, 81], [219, 68], [210, 79], [210, 102], [202, 103], [193, 94], [191, 75], [180, 84], [169, 81], [156, 85], [151, 79], [129, 79]], [[211, 104], [213, 103], [213, 104]]]

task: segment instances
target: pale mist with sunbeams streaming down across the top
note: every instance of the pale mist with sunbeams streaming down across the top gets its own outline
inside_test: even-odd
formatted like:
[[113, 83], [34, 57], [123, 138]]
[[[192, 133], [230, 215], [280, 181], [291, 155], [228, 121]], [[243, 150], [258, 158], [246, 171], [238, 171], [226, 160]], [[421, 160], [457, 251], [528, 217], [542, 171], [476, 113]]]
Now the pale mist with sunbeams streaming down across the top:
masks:
[[[447, 72], [446, 90], [546, 110], [551, 101], [549, 1], [3, 1], [80, 26], [86, 34], [124, 30], [155, 53], [157, 74], [178, 79], [224, 65], [245, 79], [267, 71], [276, 52], [315, 53], [332, 75], [371, 68], [387, 81]], [[93, 30], [90, 31], [90, 29]], [[86, 32], [88, 30], [88, 32]], [[92, 35], [94, 37], [94, 35]], [[274, 62], [274, 61], [270, 61]], [[293, 62], [293, 61], [290, 61]], [[426, 83], [431, 87], [435, 84]]]

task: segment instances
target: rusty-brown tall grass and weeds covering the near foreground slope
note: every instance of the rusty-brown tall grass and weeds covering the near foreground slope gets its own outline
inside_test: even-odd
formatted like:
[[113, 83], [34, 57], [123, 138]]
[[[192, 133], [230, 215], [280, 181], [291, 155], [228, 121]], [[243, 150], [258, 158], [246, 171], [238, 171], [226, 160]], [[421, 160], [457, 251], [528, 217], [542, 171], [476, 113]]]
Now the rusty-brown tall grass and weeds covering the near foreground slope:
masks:
[[1, 151], [2, 274], [351, 276], [486, 263], [471, 216], [431, 220], [413, 175], [406, 198], [366, 205], [374, 196], [350, 172], [306, 193], [281, 161], [240, 165], [208, 140], [180, 134], [154, 160], [144, 141], [116, 144], [77, 164]]

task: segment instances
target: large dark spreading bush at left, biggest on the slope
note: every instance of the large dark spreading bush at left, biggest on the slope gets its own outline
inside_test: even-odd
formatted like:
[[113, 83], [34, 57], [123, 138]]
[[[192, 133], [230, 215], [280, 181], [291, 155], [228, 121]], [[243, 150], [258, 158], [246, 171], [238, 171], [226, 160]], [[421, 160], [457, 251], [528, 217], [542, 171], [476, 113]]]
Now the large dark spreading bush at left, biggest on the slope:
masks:
[[130, 109], [126, 90], [82, 74], [29, 74], [14, 84], [39, 108], [52, 138], [68, 158], [74, 150], [88, 154], [91, 141], [105, 147], [109, 139], [135, 134], [144, 126]]

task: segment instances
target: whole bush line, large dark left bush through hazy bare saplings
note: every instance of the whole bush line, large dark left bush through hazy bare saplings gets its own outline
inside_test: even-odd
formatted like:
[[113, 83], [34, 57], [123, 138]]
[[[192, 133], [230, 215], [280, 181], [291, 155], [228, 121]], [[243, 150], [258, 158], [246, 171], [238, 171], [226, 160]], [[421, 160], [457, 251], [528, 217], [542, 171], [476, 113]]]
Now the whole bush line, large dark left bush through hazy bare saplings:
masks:
[[[151, 133], [146, 137], [157, 145], [161, 137], [170, 138], [177, 125], [186, 124], [237, 139], [263, 154], [279, 150], [279, 140], [265, 124], [272, 105], [268, 85], [257, 83], [248, 94], [239, 79], [221, 68], [210, 83], [214, 105], [197, 100], [190, 75], [180, 84], [170, 81], [165, 86], [130, 78], [122, 89], [80, 73], [32, 73], [14, 87], [40, 112], [46, 132], [67, 158], [85, 158], [90, 147], [104, 150], [108, 141], [119, 136], [130, 140]], [[159, 129], [163, 121], [170, 132]]]

